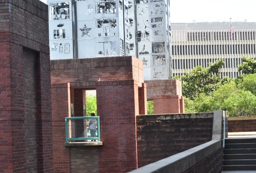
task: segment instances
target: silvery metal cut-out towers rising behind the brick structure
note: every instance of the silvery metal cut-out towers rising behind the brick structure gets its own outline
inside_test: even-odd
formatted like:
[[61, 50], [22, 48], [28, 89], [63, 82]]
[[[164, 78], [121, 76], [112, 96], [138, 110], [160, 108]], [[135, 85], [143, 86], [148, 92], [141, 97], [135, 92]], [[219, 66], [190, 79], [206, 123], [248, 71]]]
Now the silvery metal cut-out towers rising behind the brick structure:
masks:
[[169, 1], [48, 0], [48, 5], [51, 59], [133, 55], [149, 72], [145, 80], [171, 78]]

